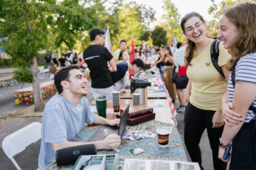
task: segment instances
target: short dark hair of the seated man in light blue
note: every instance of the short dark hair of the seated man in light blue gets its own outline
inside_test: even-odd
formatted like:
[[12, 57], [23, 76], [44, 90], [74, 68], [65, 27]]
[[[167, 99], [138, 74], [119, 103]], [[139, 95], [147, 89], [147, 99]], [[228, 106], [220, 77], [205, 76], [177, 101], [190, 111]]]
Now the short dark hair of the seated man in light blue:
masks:
[[54, 76], [54, 84], [57, 88], [59, 94], [63, 92], [63, 87], [61, 86], [61, 81], [68, 80], [70, 78], [70, 71], [72, 69], [79, 69], [77, 65], [69, 65], [68, 67], [63, 67], [63, 69], [59, 70]]

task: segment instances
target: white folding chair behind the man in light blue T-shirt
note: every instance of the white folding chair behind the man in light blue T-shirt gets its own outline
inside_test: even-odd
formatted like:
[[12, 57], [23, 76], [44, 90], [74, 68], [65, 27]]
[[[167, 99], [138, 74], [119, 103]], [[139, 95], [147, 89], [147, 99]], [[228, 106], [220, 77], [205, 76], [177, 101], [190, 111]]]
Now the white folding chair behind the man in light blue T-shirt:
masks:
[[31, 143], [41, 139], [41, 126], [40, 122], [33, 122], [3, 139], [3, 152], [12, 160], [17, 169], [21, 170], [13, 157], [25, 150]]

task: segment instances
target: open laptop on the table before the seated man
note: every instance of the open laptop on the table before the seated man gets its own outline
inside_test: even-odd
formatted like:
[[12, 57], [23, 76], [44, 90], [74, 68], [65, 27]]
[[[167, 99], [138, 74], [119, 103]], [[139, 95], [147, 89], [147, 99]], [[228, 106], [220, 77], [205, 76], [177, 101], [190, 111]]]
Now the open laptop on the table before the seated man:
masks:
[[130, 107], [130, 104], [126, 107], [124, 112], [121, 114], [119, 126], [103, 126], [102, 128], [98, 129], [94, 133], [94, 135], [92, 135], [88, 139], [88, 141], [100, 141], [102, 139], [105, 139], [106, 136], [108, 136], [112, 133], [116, 133], [117, 135], [122, 137], [124, 135], [124, 132], [126, 131], [129, 107]]

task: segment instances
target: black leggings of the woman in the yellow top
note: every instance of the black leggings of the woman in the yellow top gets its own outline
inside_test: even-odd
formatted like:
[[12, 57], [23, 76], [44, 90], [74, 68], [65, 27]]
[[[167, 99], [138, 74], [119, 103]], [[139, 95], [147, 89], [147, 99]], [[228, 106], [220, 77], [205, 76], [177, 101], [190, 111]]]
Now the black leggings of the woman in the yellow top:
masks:
[[212, 128], [212, 117], [216, 111], [203, 110], [195, 107], [191, 103], [188, 103], [184, 116], [184, 139], [186, 149], [192, 160], [192, 162], [199, 163], [201, 169], [203, 169], [201, 150], [199, 143], [203, 131], [207, 129], [208, 139], [212, 148], [212, 159], [215, 170], [223, 170], [227, 168], [227, 163], [224, 163], [218, 158], [218, 138], [223, 133], [223, 127]]

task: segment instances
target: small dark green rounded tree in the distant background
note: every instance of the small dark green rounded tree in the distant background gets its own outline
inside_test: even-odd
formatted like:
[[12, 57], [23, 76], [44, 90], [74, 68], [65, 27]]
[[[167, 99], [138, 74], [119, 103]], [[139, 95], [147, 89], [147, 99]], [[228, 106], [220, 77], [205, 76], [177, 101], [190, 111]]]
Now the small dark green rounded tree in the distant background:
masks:
[[162, 27], [156, 27], [151, 33], [154, 46], [166, 46], [167, 45], [167, 31]]

